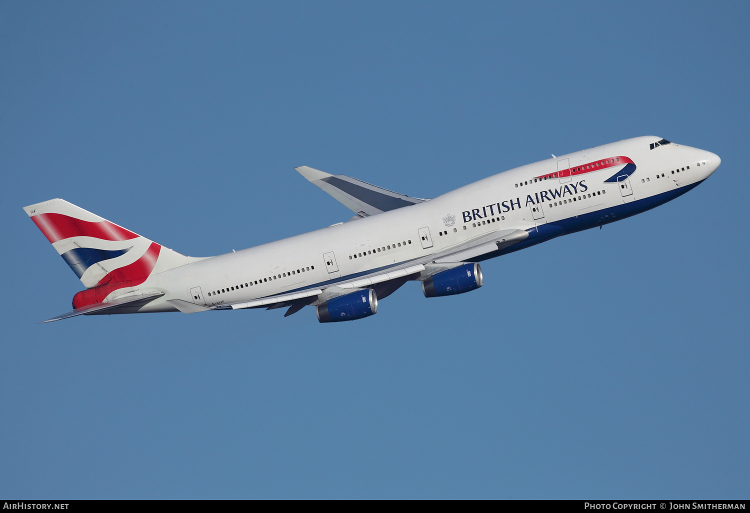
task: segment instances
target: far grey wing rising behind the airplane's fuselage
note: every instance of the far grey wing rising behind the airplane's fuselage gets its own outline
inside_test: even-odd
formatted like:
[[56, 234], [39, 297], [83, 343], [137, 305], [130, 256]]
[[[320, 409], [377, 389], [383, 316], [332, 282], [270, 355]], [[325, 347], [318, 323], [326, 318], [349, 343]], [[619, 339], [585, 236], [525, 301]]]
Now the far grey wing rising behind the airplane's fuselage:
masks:
[[356, 217], [367, 217], [427, 201], [395, 193], [350, 176], [332, 175], [309, 166], [294, 169], [357, 214]]

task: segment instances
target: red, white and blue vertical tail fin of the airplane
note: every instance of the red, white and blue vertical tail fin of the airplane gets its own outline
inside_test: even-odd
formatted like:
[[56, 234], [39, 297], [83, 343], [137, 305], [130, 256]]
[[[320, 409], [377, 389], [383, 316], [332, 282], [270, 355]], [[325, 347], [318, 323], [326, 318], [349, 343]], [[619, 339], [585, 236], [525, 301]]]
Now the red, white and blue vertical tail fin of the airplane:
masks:
[[23, 209], [87, 289], [98, 289], [96, 296], [109, 291], [97, 297], [100, 302], [114, 290], [142, 284], [152, 273], [202, 260], [164, 248], [65, 199]]

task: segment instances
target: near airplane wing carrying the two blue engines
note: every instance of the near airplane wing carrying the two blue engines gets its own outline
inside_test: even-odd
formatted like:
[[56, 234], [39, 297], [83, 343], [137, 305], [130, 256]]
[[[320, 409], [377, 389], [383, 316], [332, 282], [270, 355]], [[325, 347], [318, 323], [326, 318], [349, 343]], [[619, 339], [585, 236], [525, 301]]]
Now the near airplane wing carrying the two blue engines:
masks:
[[317, 284], [305, 290], [299, 290], [291, 294], [268, 296], [266, 298], [254, 299], [253, 301], [220, 305], [213, 310], [240, 310], [242, 308], [275, 308], [289, 307], [284, 317], [290, 316], [302, 310], [305, 305], [315, 302], [323, 302], [335, 296], [354, 292], [359, 289], [375, 289], [379, 299], [383, 299], [393, 293], [409, 280], [424, 280], [434, 275], [435, 272], [455, 267], [456, 263], [471, 261], [484, 254], [492, 253], [510, 247], [523, 241], [529, 234], [523, 229], [495, 230], [491, 233], [470, 239], [462, 244], [446, 248], [443, 251], [426, 255], [416, 260], [395, 264], [386, 269], [380, 269], [369, 275], [359, 276], [354, 279], [342, 278], [341, 281], [332, 281], [326, 284]]

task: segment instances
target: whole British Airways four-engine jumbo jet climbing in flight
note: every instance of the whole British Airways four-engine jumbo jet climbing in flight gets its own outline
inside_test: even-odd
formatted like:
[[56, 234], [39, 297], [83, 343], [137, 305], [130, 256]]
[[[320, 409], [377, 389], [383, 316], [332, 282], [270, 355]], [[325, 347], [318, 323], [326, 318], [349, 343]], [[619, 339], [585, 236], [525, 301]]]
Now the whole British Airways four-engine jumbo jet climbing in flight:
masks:
[[407, 281], [425, 297], [484, 283], [479, 262], [649, 210], [688, 192], [721, 159], [657, 136], [623, 139], [499, 172], [422, 199], [308, 166], [302, 176], [354, 216], [217, 257], [186, 257], [64, 199], [24, 207], [86, 287], [79, 315], [305, 306], [320, 323], [374, 315]]

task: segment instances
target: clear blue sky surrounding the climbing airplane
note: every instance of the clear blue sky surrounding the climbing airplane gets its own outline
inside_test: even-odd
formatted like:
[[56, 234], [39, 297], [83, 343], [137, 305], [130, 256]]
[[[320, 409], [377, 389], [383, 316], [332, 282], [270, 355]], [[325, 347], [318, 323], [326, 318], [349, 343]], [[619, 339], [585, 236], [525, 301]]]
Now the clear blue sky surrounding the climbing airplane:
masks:
[[[0, 496], [747, 498], [748, 43], [727, 2], [2, 2]], [[312, 308], [78, 317], [21, 207], [220, 254], [347, 220], [309, 165], [432, 197], [632, 136], [685, 196]]]

